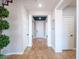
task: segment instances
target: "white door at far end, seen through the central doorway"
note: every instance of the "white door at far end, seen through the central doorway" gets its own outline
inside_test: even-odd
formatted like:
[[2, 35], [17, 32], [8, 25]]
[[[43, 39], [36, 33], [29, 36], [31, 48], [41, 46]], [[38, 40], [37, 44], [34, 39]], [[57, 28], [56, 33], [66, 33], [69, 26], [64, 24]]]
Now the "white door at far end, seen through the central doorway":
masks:
[[45, 36], [45, 21], [36, 21], [36, 37]]

